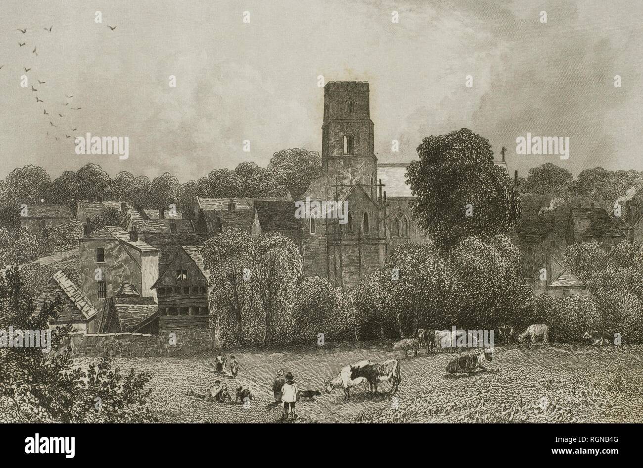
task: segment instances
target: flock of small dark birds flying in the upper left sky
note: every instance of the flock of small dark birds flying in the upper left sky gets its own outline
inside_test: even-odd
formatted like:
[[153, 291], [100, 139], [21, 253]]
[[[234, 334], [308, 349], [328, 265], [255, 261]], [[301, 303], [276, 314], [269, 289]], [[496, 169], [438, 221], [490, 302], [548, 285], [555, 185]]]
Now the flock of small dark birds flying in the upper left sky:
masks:
[[[115, 30], [116, 26], [109, 26], [110, 30]], [[46, 32], [51, 33], [51, 30], [53, 29], [53, 25], [48, 27], [48, 28], [42, 28]], [[17, 28], [17, 31], [19, 31], [21, 34], [25, 35], [27, 33], [27, 28]], [[24, 36], [28, 37], [28, 36]], [[27, 45], [26, 39], [22, 38], [22, 41], [18, 41], [18, 47], [24, 47]], [[31, 46], [30, 46], [31, 47]], [[28, 50], [28, 49], [27, 49]], [[33, 59], [34, 57], [38, 56], [38, 46], [33, 46], [33, 50], [28, 56], [30, 59]], [[0, 65], [0, 70], [3, 69], [5, 65]], [[23, 67], [24, 73], [29, 73], [32, 71], [32, 67]], [[31, 80], [32, 77], [30, 75], [27, 75], [28, 80]], [[38, 93], [41, 88], [44, 88], [43, 85], [46, 85], [46, 81], [42, 81], [41, 79], [37, 78], [37, 86], [38, 88], [35, 88], [33, 84], [30, 85], [30, 89], [33, 93]], [[80, 111], [82, 107], [75, 107], [75, 104], [71, 101], [73, 99], [73, 95], [65, 95], [65, 100], [66, 102], [60, 102], [60, 103], [55, 103], [55, 102], [45, 102], [40, 98], [39, 95], [34, 95], [36, 104], [40, 105], [42, 114], [43, 116], [49, 116], [46, 117], [46, 120], [49, 120], [49, 126], [50, 126], [50, 131], [47, 131], [46, 136], [49, 138], [53, 136], [56, 141], [71, 138], [72, 135], [69, 135], [69, 133], [77, 131], [78, 127], [74, 127], [73, 124], [70, 124], [70, 120], [73, 118], [73, 115], [75, 115], [76, 111]], [[49, 111], [47, 110], [49, 108]], [[65, 112], [65, 114], [62, 114], [62, 112]], [[73, 114], [73, 115], [71, 115]], [[54, 123], [55, 122], [55, 123]], [[56, 129], [56, 130], [54, 130]], [[61, 133], [59, 133], [61, 132]]]

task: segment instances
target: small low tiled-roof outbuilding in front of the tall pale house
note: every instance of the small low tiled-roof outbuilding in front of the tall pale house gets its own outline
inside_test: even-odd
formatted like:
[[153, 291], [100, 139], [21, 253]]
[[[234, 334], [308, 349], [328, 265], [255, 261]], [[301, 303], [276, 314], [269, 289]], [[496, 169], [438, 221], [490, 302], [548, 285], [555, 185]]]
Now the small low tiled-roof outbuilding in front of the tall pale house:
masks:
[[109, 298], [101, 332], [158, 335], [159, 310], [154, 297], [142, 297], [136, 286], [123, 283], [116, 296]]

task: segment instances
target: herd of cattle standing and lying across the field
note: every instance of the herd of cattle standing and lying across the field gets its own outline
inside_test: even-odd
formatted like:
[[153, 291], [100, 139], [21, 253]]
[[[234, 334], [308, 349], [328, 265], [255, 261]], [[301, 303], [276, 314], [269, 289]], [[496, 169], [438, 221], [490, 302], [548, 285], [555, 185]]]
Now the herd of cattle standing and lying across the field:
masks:
[[[448, 330], [424, 330], [420, 328], [417, 330], [415, 337], [404, 338], [395, 342], [393, 349], [403, 350], [405, 358], [408, 358], [408, 351], [413, 351], [414, 355], [417, 356], [420, 348], [426, 348], [428, 353], [431, 353], [433, 348], [445, 348], [454, 351], [454, 333], [456, 333], [456, 330], [449, 332]], [[482, 364], [485, 361], [490, 362], [493, 358], [493, 343], [491, 346], [485, 347], [476, 341], [475, 336], [469, 335], [472, 335], [472, 333], [467, 333], [466, 342], [482, 349], [477, 353], [462, 355], [451, 360], [446, 366], [447, 373], [456, 375], [466, 373], [471, 375], [478, 368], [485, 370]], [[524, 342], [527, 337], [529, 337], [531, 344], [535, 344], [539, 340], [547, 343], [549, 328], [545, 324], [533, 324], [528, 326], [522, 333], [514, 332], [514, 329], [509, 325], [503, 325], [498, 328], [498, 338], [503, 344], [510, 344], [516, 341]], [[613, 337], [613, 334], [602, 332], [586, 332], [583, 335], [583, 339], [591, 341], [594, 345], [609, 344], [611, 337]], [[381, 363], [360, 360], [356, 364], [343, 367], [337, 377], [332, 380], [326, 380], [324, 385], [326, 393], [331, 393], [333, 389], [341, 388], [344, 391], [344, 400], [347, 401], [350, 400], [351, 388], [363, 386], [364, 391], [367, 391], [368, 384], [370, 391], [377, 393], [377, 384], [386, 381], [391, 382], [390, 393], [395, 393], [402, 381], [399, 360], [388, 359]]]

